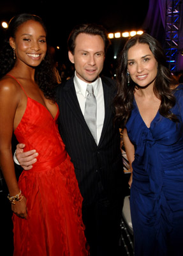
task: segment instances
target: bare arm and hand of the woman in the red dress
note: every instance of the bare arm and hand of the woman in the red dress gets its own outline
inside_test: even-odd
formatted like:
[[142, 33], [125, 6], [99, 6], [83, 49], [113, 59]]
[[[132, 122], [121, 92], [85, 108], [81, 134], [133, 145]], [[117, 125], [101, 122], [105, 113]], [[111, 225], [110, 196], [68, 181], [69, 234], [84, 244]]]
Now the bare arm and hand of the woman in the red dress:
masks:
[[[19, 102], [20, 93], [17, 86], [11, 83], [10, 79], [3, 79], [0, 83], [0, 164], [10, 196], [20, 193], [11, 152], [13, 124]], [[11, 209], [18, 216], [26, 218], [26, 198], [12, 204]]]

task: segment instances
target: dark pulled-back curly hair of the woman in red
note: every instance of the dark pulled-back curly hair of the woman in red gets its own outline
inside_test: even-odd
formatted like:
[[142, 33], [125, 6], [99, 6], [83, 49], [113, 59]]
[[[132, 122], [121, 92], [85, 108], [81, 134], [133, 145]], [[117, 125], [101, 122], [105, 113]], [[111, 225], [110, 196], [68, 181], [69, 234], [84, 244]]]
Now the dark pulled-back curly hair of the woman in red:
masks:
[[[6, 36], [4, 38], [4, 44], [0, 50], [0, 79], [10, 72], [15, 65], [13, 49], [10, 46], [10, 37], [15, 38], [15, 33], [18, 27], [28, 20], [35, 20], [36, 22], [39, 22], [47, 34], [47, 29], [45, 28], [43, 20], [41, 20], [37, 15], [22, 13], [13, 17], [9, 22]], [[41, 61], [41, 64], [38, 67], [35, 68], [35, 81], [38, 83], [38, 86], [44, 93], [45, 97], [55, 101], [54, 88], [56, 85], [56, 79], [54, 75], [54, 61], [52, 57], [52, 54], [48, 50], [45, 59]]]

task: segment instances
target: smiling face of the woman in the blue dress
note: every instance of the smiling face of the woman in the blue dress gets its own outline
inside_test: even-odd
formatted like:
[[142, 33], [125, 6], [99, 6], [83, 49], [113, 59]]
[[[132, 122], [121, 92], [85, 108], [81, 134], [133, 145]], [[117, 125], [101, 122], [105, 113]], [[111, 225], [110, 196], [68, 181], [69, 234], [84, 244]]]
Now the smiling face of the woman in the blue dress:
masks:
[[128, 72], [139, 86], [154, 84], [157, 76], [157, 61], [148, 44], [137, 43], [128, 50]]

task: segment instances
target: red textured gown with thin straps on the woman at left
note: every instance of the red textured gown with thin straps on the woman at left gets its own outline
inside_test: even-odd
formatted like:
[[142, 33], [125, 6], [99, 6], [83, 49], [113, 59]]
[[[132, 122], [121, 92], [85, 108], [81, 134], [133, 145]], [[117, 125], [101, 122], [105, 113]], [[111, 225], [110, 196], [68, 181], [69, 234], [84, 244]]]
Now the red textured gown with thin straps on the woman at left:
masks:
[[23, 171], [18, 185], [27, 198], [27, 220], [13, 214], [15, 256], [88, 255], [82, 196], [75, 170], [57, 129], [57, 117], [27, 97], [15, 136], [25, 150], [36, 149], [38, 161]]

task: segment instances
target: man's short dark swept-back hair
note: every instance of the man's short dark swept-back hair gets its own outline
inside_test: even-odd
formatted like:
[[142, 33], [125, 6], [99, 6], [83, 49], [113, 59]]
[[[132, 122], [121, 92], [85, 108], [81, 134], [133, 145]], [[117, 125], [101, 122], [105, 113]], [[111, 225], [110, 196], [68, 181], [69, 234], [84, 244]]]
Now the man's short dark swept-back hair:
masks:
[[72, 54], [75, 52], [75, 41], [80, 33], [101, 36], [105, 44], [105, 52], [111, 44], [107, 31], [103, 26], [98, 24], [79, 24], [73, 28], [68, 38], [68, 51], [71, 51]]

